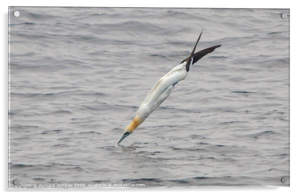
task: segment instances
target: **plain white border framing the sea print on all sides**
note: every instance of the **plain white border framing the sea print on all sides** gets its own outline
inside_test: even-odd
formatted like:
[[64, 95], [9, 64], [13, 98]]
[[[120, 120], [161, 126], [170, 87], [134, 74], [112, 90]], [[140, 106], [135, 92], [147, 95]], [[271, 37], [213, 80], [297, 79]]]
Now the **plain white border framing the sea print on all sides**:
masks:
[[[296, 2], [296, 3], [295, 3]], [[118, 195], [153, 195], [158, 193], [169, 192], [175, 195], [182, 195], [185, 191], [189, 191], [189, 194], [200, 195], [200, 194], [211, 194], [211, 195], [255, 195], [255, 194], [272, 194], [272, 195], [291, 195], [299, 190], [299, 182], [301, 181], [301, 7], [298, 5], [298, 1], [62, 1], [52, 0], [50, 2], [45, 1], [15, 1], [10, 0], [7, 2], [1, 1], [1, 12], [2, 12], [2, 36], [1, 36], [1, 59], [3, 63], [1, 66], [1, 125], [3, 139], [2, 139], [2, 151], [1, 157], [3, 158], [2, 163], [2, 176], [0, 184], [1, 190], [6, 195], [17, 194], [17, 190], [8, 190], [8, 6], [64, 6], [64, 7], [197, 7], [197, 8], [286, 8], [290, 9], [290, 187], [263, 187], [263, 188], [162, 188], [162, 189], [98, 189], [89, 190], [90, 194], [99, 195], [105, 194], [118, 194]], [[22, 194], [25, 195], [52, 195], [54, 192], [59, 194], [66, 194], [65, 192], [72, 191], [72, 194], [81, 195], [87, 190], [43, 190], [36, 191], [25, 191]], [[43, 193], [41, 192], [43, 191]]]

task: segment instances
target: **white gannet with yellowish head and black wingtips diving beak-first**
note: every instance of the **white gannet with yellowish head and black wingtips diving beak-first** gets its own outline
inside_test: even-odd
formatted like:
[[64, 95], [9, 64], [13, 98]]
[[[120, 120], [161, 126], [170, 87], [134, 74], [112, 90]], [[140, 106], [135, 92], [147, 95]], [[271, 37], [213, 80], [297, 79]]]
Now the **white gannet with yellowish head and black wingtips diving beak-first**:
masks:
[[199, 59], [208, 53], [213, 52], [221, 45], [212, 46], [206, 48], [194, 54], [197, 43], [199, 42], [201, 31], [198, 40], [193, 48], [193, 51], [189, 57], [183, 60], [179, 65], [174, 67], [166, 75], [164, 75], [159, 81], [156, 82], [154, 87], [148, 92], [144, 101], [140, 104], [136, 116], [131, 123], [125, 128], [123, 136], [120, 138], [117, 144], [130, 135], [144, 120], [157, 109], [171, 94], [174, 86], [181, 80], [184, 80], [190, 70], [190, 66], [196, 63]]

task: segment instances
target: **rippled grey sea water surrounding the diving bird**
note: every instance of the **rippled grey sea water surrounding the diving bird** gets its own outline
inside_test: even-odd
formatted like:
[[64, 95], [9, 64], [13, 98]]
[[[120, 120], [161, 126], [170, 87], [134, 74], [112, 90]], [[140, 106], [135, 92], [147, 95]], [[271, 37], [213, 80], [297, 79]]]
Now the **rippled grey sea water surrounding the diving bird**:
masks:
[[[289, 10], [11, 7], [10, 187], [288, 186], [282, 13]], [[117, 146], [202, 28], [197, 51], [222, 46]]]

